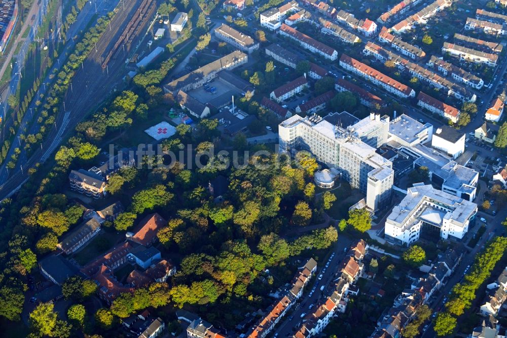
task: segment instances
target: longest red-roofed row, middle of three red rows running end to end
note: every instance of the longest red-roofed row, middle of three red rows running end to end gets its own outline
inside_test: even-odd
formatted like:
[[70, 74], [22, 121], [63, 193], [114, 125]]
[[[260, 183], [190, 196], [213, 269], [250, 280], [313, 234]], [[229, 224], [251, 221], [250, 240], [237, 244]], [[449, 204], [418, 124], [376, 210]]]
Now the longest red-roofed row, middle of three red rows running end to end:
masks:
[[381, 86], [396, 96], [404, 98], [415, 96], [415, 91], [412, 88], [380, 73], [372, 67], [359, 62], [346, 54], [342, 54], [342, 57], [340, 58], [340, 66], [354, 74], [370, 80], [373, 84]]

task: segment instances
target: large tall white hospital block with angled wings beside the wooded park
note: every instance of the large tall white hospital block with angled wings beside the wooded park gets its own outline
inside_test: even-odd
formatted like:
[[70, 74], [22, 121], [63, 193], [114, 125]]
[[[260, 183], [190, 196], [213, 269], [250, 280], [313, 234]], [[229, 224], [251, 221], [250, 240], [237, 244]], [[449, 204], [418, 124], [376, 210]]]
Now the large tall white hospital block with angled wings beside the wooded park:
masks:
[[345, 129], [318, 116], [295, 115], [279, 125], [280, 151], [310, 151], [317, 161], [337, 168], [352, 187], [366, 193], [368, 207], [378, 210], [390, 198], [394, 178], [392, 163], [361, 140], [375, 145], [387, 140], [388, 121], [372, 114]]

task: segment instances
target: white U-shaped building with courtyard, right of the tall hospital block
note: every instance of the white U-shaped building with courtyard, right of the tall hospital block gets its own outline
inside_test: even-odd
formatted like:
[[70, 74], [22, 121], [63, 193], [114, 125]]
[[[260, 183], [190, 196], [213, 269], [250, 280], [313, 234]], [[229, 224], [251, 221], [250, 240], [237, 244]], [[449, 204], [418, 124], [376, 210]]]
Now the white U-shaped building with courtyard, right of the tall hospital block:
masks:
[[436, 227], [440, 237], [462, 239], [477, 214], [477, 205], [457, 196], [418, 184], [393, 208], [385, 222], [385, 239], [410, 245], [419, 239], [423, 227]]

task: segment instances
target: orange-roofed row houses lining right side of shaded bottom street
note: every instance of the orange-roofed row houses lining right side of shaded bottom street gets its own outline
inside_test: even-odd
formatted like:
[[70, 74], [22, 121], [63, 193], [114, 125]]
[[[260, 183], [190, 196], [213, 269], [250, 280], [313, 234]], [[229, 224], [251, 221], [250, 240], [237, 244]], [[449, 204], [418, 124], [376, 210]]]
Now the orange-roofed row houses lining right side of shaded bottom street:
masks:
[[324, 291], [328, 296], [317, 303], [312, 313], [303, 317], [301, 325], [292, 337], [318, 336], [329, 324], [331, 318], [337, 313], [345, 312], [350, 284], [361, 276], [364, 265], [361, 260], [366, 255], [367, 250], [368, 245], [364, 240], [359, 240], [355, 245], [351, 246], [347, 256], [339, 265], [339, 274], [341, 273], [341, 276], [336, 280], [332, 288]]

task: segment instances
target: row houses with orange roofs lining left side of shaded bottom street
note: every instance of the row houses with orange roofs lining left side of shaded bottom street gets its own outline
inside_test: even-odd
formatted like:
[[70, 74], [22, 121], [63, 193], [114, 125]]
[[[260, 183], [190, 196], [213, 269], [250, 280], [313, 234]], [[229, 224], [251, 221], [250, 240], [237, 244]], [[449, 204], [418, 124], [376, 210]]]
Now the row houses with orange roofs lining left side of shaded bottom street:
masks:
[[292, 281], [291, 288], [288, 289], [280, 300], [267, 309], [267, 315], [262, 317], [245, 334], [248, 338], [264, 338], [271, 332], [274, 326], [280, 321], [285, 313], [294, 305], [294, 303], [303, 294], [304, 287], [308, 284], [311, 276], [315, 274], [317, 262], [310, 258], [306, 264], [298, 269], [298, 273]]

